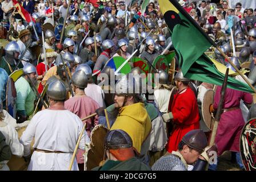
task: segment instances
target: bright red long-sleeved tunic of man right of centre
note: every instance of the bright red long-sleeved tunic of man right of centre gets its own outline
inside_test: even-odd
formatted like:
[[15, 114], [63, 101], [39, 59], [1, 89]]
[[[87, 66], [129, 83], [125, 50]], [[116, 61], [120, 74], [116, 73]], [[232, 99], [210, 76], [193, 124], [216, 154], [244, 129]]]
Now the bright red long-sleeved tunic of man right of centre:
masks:
[[173, 113], [174, 127], [166, 149], [172, 152], [178, 150], [178, 144], [186, 133], [199, 129], [199, 110], [193, 90], [187, 88], [184, 93], [175, 94], [169, 110]]

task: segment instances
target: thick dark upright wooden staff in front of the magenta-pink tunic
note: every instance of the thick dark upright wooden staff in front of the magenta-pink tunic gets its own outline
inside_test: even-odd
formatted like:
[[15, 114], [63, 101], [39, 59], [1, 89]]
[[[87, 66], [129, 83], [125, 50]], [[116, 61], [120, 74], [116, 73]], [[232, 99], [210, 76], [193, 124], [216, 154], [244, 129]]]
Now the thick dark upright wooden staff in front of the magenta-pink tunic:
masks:
[[214, 121], [214, 126], [213, 126], [213, 131], [211, 133], [211, 139], [210, 139], [210, 146], [214, 144], [214, 140], [216, 137], [216, 133], [217, 133], [217, 129], [218, 129], [218, 125], [219, 125], [219, 120], [221, 119], [221, 114], [222, 114], [222, 107], [224, 104], [224, 99], [225, 99], [225, 93], [226, 93], [226, 89], [227, 89], [227, 77], [229, 76], [229, 68], [227, 68], [226, 70], [226, 75], [222, 84], [222, 88], [221, 88], [221, 99], [219, 100], [219, 106], [217, 109], [217, 114], [215, 117], [215, 121]]

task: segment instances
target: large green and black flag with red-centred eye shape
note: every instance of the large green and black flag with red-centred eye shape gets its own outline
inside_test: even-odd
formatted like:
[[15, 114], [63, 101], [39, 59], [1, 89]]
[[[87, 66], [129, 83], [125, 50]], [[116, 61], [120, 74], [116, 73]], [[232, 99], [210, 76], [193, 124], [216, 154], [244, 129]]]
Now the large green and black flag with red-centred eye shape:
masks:
[[[176, 0], [158, 0], [158, 2], [171, 32], [171, 40], [183, 75], [191, 80], [222, 85], [225, 74], [219, 71], [213, 61], [205, 55], [207, 49], [217, 45]], [[228, 78], [227, 87], [253, 93], [249, 85], [233, 77]]]

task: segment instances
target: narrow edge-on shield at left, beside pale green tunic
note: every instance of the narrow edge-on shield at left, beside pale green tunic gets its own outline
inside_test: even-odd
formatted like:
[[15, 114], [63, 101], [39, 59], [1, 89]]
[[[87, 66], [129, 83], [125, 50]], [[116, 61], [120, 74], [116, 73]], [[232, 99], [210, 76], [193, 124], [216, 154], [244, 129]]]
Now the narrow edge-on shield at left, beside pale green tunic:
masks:
[[6, 86], [6, 111], [11, 117], [16, 118], [16, 97], [17, 92], [13, 78], [9, 78]]

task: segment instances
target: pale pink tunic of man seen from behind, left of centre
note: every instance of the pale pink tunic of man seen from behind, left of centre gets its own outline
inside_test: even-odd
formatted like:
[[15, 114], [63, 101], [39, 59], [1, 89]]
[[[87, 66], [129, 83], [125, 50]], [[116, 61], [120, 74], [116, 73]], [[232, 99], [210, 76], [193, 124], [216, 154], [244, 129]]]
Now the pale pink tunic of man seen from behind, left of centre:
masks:
[[[79, 118], [85, 118], [88, 115], [95, 113], [95, 110], [99, 108], [99, 105], [91, 97], [88, 96], [75, 96], [65, 101], [65, 108], [72, 113], [78, 115]], [[86, 131], [90, 137], [91, 127], [98, 125], [98, 116], [83, 121], [86, 122]], [[77, 162], [79, 164], [84, 163], [83, 150], [78, 149], [77, 151]]]

